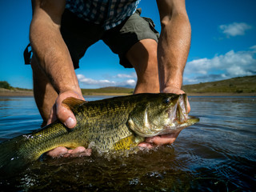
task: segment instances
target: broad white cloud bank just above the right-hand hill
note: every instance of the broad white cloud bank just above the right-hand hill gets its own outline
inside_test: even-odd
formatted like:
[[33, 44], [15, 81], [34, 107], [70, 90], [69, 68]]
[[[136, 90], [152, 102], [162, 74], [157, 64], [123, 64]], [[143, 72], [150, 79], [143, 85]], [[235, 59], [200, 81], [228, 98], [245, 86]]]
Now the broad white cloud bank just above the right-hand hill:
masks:
[[254, 75], [256, 74], [255, 54], [254, 50], [238, 52], [230, 50], [214, 58], [195, 59], [186, 64], [184, 84]]

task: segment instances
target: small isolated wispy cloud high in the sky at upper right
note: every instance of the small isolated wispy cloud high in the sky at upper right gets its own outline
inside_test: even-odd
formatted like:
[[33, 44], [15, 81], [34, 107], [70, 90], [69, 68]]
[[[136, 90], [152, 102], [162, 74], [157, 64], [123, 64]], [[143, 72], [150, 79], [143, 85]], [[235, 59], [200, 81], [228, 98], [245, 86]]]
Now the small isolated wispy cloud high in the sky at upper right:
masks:
[[219, 26], [219, 29], [222, 30], [223, 34], [226, 34], [228, 37], [244, 35], [246, 30], [250, 30], [252, 26], [246, 24], [245, 22], [233, 22], [227, 25]]

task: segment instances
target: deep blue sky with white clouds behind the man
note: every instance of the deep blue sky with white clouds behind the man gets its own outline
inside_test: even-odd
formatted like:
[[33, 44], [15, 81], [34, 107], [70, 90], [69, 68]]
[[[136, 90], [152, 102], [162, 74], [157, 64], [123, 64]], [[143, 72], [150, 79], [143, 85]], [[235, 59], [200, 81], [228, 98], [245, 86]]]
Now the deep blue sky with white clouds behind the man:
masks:
[[[161, 30], [155, 0], [142, 0], [142, 16], [150, 17]], [[256, 74], [256, 1], [186, 1], [192, 27], [190, 54], [183, 83], [218, 81]], [[0, 81], [32, 88], [32, 70], [23, 64], [29, 43], [31, 3], [0, 0]], [[118, 56], [97, 42], [87, 50], [76, 70], [82, 88], [134, 86], [134, 69], [118, 64]]]

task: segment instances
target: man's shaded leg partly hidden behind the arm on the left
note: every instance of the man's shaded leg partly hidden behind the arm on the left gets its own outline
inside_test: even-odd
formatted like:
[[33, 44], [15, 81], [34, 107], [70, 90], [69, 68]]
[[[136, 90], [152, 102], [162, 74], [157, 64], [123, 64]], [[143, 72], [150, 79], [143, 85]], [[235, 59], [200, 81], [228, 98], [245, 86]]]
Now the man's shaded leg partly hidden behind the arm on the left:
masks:
[[42, 116], [42, 126], [45, 126], [50, 115], [50, 109], [58, 94], [51, 86], [46, 74], [40, 69], [35, 56], [31, 60], [31, 67], [33, 70], [34, 99]]

